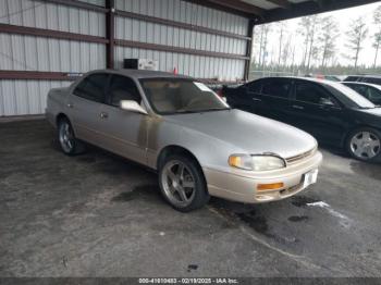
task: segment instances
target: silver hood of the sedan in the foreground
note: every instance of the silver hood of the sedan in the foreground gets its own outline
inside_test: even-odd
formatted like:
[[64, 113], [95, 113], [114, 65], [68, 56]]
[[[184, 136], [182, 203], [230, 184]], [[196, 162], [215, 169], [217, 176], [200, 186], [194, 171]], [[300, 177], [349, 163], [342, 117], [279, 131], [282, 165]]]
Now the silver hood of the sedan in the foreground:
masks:
[[[175, 114], [167, 122], [202, 133], [250, 154], [298, 156], [316, 147], [316, 139], [293, 126], [239, 110]], [[218, 147], [218, 146], [217, 146]]]

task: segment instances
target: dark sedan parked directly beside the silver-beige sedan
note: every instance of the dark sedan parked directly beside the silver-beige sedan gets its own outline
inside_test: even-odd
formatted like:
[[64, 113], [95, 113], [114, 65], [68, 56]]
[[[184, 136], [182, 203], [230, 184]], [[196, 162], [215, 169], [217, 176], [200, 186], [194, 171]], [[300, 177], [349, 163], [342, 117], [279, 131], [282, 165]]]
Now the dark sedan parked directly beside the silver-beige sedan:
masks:
[[381, 108], [341, 83], [270, 77], [222, 95], [233, 108], [299, 127], [356, 159], [381, 160]]

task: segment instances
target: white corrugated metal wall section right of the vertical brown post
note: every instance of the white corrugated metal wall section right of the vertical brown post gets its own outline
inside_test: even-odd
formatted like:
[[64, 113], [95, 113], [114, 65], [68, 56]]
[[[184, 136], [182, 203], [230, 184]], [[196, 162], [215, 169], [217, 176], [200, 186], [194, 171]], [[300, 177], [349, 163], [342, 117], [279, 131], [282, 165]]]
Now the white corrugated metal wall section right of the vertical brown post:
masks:
[[[209, 27], [243, 36], [247, 35], [247, 18], [181, 0], [116, 0], [115, 7], [122, 11]], [[247, 41], [244, 39], [210, 35], [120, 16], [115, 21], [115, 37], [148, 44], [241, 55], [245, 55], [247, 45]], [[161, 71], [173, 71], [176, 67], [179, 73], [201, 78], [235, 80], [244, 77], [244, 60], [116, 47], [115, 66], [121, 67], [124, 58], [158, 60]]]

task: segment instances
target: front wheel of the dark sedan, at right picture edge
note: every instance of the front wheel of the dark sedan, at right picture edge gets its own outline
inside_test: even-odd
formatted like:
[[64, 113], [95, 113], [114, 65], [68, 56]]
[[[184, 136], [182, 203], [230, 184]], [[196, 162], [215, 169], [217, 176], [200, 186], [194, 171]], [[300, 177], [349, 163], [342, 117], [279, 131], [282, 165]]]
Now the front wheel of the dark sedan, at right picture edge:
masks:
[[371, 127], [353, 131], [346, 140], [346, 150], [357, 160], [366, 162], [380, 161], [381, 134]]

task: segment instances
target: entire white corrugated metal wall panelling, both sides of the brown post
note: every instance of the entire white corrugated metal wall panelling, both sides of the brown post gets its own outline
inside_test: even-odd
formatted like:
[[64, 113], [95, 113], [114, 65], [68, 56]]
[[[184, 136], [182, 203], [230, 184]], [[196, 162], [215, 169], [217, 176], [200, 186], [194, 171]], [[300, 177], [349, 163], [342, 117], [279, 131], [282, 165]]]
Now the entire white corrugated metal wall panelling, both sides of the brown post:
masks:
[[[105, 0], [81, 0], [105, 5]], [[115, 0], [118, 10], [151, 15], [218, 30], [247, 35], [248, 20], [182, 0]], [[0, 23], [106, 36], [106, 15], [34, 0], [0, 0]], [[115, 38], [171, 47], [245, 55], [247, 41], [115, 16]], [[125, 58], [159, 61], [161, 71], [195, 77], [235, 80], [245, 60], [115, 47], [115, 67]], [[106, 67], [106, 45], [0, 33], [0, 70], [81, 73]], [[0, 79], [0, 116], [45, 112], [46, 95], [70, 82]]]

